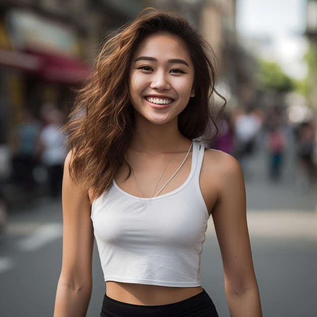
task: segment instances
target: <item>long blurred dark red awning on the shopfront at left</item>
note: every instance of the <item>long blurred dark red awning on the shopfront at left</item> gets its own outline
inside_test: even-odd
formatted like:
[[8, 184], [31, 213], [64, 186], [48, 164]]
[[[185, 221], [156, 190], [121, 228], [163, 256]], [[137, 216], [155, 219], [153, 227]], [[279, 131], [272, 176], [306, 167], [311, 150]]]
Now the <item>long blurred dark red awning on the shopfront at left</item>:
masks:
[[0, 65], [33, 72], [46, 81], [68, 85], [80, 85], [91, 74], [91, 68], [80, 60], [37, 52], [0, 50]]

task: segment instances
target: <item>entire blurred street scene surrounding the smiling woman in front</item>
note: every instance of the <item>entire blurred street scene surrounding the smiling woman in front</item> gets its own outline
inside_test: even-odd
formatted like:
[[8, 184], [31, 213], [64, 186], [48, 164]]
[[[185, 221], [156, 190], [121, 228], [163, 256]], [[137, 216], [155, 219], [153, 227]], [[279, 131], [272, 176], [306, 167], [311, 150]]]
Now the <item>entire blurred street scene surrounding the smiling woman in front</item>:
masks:
[[[227, 106], [207, 144], [241, 163], [264, 316], [317, 316], [317, 0], [1, 0], [0, 316], [52, 316], [61, 268], [60, 127], [103, 39], [145, 7], [183, 12]], [[217, 105], [217, 100], [216, 100]], [[210, 221], [203, 287], [228, 317]], [[97, 249], [88, 317], [105, 292]]]

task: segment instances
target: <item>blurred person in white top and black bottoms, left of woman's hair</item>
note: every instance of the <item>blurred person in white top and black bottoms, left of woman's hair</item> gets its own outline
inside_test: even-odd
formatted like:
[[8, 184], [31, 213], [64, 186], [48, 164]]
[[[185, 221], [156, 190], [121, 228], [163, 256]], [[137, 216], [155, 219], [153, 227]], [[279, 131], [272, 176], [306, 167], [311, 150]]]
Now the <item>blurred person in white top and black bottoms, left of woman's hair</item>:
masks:
[[63, 165], [67, 154], [65, 136], [61, 131], [64, 114], [52, 108], [46, 114], [46, 120], [47, 124], [39, 134], [38, 152], [48, 172], [50, 195], [55, 198], [61, 194]]

